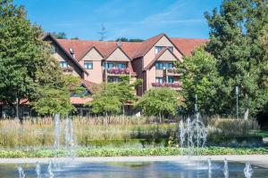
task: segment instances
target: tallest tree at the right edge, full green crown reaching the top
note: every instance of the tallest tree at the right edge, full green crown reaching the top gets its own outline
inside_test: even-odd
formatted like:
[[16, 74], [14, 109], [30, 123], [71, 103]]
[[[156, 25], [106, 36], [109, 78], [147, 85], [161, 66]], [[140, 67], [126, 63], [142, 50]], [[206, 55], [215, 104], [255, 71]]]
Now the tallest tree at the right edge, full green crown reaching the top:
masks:
[[267, 14], [265, 0], [225, 0], [219, 13], [216, 9], [212, 14], [205, 13], [211, 28], [205, 50], [214, 55], [223, 77], [219, 90], [222, 113], [235, 112], [236, 85], [240, 87], [239, 110], [245, 119], [264, 108], [267, 98], [262, 78], [268, 68], [264, 48], [257, 39], [267, 25]]

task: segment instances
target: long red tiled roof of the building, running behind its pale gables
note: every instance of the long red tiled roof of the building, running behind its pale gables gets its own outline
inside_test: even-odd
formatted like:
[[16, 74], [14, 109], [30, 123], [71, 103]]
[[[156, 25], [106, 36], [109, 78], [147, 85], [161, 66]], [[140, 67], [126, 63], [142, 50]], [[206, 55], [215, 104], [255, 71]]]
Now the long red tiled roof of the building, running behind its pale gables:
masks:
[[[163, 36], [166, 35], [162, 33], [151, 37], [144, 42], [88, 41], [70, 39], [57, 39], [57, 41], [68, 53], [70, 53], [69, 49], [72, 48], [77, 61], [80, 61], [93, 47], [95, 47], [104, 58], [107, 58], [119, 46], [123, 52], [130, 57], [130, 59], [135, 59], [144, 56]], [[188, 39], [178, 37], [172, 37], [170, 40], [180, 53], [186, 56], [191, 55], [195, 48], [208, 41], [207, 39]]]

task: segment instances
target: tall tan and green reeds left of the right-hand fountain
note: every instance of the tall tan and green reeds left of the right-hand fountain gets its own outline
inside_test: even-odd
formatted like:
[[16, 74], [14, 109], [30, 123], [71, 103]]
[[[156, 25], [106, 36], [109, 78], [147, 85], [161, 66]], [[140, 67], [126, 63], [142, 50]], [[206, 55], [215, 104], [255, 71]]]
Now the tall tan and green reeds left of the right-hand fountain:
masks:
[[[155, 124], [154, 117], [73, 117], [76, 142], [88, 146], [94, 141], [139, 139], [140, 135], [166, 135], [177, 125]], [[61, 120], [62, 143], [64, 119]], [[51, 147], [54, 144], [53, 118], [28, 118], [22, 125], [13, 119], [0, 120], [0, 147]]]

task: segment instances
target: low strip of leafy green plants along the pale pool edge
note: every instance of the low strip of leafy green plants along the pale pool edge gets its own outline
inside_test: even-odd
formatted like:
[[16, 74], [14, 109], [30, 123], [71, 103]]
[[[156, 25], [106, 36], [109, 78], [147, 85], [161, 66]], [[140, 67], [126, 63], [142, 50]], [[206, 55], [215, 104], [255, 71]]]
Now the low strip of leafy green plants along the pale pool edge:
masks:
[[[74, 151], [76, 157], [119, 157], [119, 156], [176, 156], [188, 155], [187, 149], [178, 148], [147, 148], [147, 149], [87, 149]], [[201, 155], [264, 155], [268, 148], [223, 148], [209, 147], [199, 150]], [[66, 150], [0, 150], [0, 158], [54, 158], [70, 155]], [[197, 155], [197, 150], [192, 150]]]

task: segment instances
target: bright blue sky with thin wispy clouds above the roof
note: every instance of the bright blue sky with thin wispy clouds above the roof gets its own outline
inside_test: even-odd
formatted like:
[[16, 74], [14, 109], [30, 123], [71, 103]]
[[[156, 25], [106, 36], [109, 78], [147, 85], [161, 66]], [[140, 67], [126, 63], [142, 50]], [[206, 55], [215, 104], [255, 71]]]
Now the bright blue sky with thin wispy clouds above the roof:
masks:
[[31, 22], [46, 32], [98, 40], [101, 24], [106, 39], [147, 39], [159, 33], [172, 37], [207, 38], [204, 12], [222, 0], [14, 0], [26, 7]]

